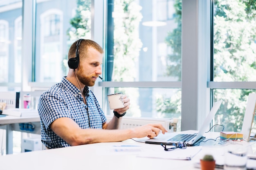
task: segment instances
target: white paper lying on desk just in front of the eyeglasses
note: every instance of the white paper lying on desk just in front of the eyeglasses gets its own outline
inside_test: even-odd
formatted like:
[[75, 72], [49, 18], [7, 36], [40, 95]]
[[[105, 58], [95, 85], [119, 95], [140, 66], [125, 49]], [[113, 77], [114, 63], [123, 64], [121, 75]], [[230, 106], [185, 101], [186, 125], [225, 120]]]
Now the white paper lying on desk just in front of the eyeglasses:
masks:
[[186, 149], [177, 148], [171, 151], [165, 151], [164, 148], [155, 152], [147, 152], [137, 155], [138, 157], [160, 158], [160, 159], [179, 159], [191, 160], [199, 151], [202, 146], [187, 147]]

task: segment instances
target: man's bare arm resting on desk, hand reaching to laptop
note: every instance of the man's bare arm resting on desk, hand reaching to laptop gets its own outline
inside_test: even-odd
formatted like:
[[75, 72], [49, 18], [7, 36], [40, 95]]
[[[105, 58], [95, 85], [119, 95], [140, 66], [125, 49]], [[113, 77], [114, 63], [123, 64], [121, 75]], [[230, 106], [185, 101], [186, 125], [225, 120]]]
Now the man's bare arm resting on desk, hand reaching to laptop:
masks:
[[58, 118], [52, 122], [50, 128], [59, 137], [71, 146], [93, 144], [99, 142], [119, 142], [133, 137], [157, 136], [161, 131], [167, 132], [162, 124], [148, 124], [133, 129], [107, 130], [107, 129], [81, 129], [70, 118]]

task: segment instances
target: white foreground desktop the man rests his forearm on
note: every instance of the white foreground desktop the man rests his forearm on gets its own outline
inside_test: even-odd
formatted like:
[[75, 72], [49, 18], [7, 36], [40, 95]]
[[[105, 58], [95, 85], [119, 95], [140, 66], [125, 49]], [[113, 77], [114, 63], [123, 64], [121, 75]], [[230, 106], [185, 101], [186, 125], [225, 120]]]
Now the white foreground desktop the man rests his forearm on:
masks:
[[[207, 135], [215, 137], [218, 134], [219, 133], [208, 133]], [[214, 141], [204, 143], [202, 150], [190, 161], [138, 157], [140, 153], [146, 151], [151, 151], [150, 154], [154, 154], [154, 152], [158, 152], [159, 150], [163, 152], [166, 151], [164, 151], [160, 145], [144, 144], [128, 139], [124, 142], [87, 144], [68, 148], [20, 153], [17, 155], [5, 155], [0, 157], [0, 167], [1, 170], [199, 170], [194, 167], [194, 163], [198, 162], [205, 152], [223, 150], [223, 146], [213, 145], [214, 143]], [[248, 142], [240, 143], [249, 145]], [[120, 145], [135, 145], [135, 147], [139, 148], [141, 151], [129, 151], [130, 147], [127, 146], [128, 150], [116, 152], [115, 149], [118, 150]], [[172, 151], [168, 151], [168, 153], [172, 154]], [[222, 159], [221, 157], [223, 157], [223, 155], [220, 153], [220, 158], [218, 159]]]

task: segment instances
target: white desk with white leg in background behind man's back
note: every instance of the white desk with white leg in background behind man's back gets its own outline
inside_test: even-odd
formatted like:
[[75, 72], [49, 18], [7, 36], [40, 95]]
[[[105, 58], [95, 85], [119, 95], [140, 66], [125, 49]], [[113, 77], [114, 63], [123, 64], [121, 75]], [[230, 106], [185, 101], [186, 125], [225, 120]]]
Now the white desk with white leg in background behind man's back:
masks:
[[[35, 126], [35, 130], [22, 131], [20, 130], [19, 123], [31, 122]], [[6, 129], [6, 154], [13, 153], [13, 131], [36, 133], [40, 134], [40, 117], [16, 117], [16, 116], [5, 116], [0, 117], [0, 129]]]

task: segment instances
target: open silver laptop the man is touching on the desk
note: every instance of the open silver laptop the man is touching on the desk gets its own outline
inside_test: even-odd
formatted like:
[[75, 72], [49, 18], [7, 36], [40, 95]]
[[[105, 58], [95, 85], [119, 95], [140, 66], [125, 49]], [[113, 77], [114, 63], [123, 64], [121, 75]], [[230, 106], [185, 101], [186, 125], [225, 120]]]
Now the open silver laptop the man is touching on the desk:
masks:
[[[207, 118], [204, 120], [200, 130], [198, 133], [195, 131], [184, 131], [180, 133], [165, 133], [159, 134], [157, 137], [152, 139], [147, 139], [145, 141], [146, 144], [166, 144], [166, 143], [179, 143], [185, 141], [187, 146], [195, 146], [199, 142], [201, 142], [205, 137], [203, 136], [204, 133], [209, 129], [209, 124], [211, 123], [213, 117], [217, 113], [222, 100], [217, 101], [213, 104], [210, 113], [208, 114]], [[196, 131], [197, 132], [197, 131]]]

